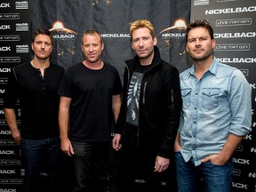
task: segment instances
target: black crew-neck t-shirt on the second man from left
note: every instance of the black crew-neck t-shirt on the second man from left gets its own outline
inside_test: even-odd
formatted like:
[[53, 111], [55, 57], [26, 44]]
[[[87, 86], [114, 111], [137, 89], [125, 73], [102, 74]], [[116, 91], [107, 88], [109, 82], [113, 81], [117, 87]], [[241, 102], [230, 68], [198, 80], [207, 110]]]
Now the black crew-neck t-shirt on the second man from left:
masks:
[[69, 139], [107, 141], [113, 124], [112, 96], [121, 94], [116, 68], [104, 63], [92, 70], [82, 62], [68, 68], [58, 93], [71, 98]]

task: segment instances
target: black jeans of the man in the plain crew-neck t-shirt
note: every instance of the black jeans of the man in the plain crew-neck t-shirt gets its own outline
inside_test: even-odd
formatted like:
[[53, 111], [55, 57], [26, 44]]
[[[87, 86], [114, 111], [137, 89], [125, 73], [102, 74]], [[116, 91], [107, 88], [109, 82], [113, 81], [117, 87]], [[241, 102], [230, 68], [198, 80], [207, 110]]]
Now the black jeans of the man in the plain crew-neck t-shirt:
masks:
[[110, 143], [72, 142], [75, 155], [73, 192], [105, 192], [108, 188]]

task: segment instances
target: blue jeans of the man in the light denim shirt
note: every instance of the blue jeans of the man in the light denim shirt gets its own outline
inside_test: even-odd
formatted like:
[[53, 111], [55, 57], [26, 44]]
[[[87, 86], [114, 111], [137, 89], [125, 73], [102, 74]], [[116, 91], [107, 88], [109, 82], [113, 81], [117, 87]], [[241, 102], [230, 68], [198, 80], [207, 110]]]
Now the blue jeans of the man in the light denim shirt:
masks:
[[204, 180], [204, 190], [207, 192], [231, 191], [233, 173], [233, 162], [231, 160], [228, 160], [228, 163], [224, 165], [214, 165], [211, 162], [206, 162], [195, 166], [193, 158], [186, 163], [180, 152], [175, 153], [179, 192], [202, 191], [202, 188], [199, 188], [201, 179]]

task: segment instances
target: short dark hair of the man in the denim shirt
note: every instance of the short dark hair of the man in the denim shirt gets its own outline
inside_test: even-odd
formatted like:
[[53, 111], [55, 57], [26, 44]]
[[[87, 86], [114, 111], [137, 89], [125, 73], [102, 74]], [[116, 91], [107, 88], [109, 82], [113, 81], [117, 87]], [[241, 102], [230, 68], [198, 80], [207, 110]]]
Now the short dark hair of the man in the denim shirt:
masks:
[[208, 20], [194, 20], [191, 23], [188, 24], [188, 27], [186, 29], [186, 39], [188, 41], [188, 33], [193, 28], [206, 28], [211, 36], [212, 39], [214, 39], [213, 36], [213, 28]]

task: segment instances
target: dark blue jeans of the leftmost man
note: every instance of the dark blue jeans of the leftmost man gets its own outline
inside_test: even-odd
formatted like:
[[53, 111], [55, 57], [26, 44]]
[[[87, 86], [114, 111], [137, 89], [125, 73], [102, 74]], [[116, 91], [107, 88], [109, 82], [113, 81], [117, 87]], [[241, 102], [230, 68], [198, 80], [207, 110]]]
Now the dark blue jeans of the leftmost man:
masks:
[[[25, 178], [21, 187], [22, 192], [35, 192], [42, 165], [46, 164], [49, 190], [58, 191], [58, 169], [60, 165], [60, 138], [53, 137], [42, 140], [21, 140], [22, 164], [25, 169]], [[46, 162], [45, 162], [46, 160]]]

